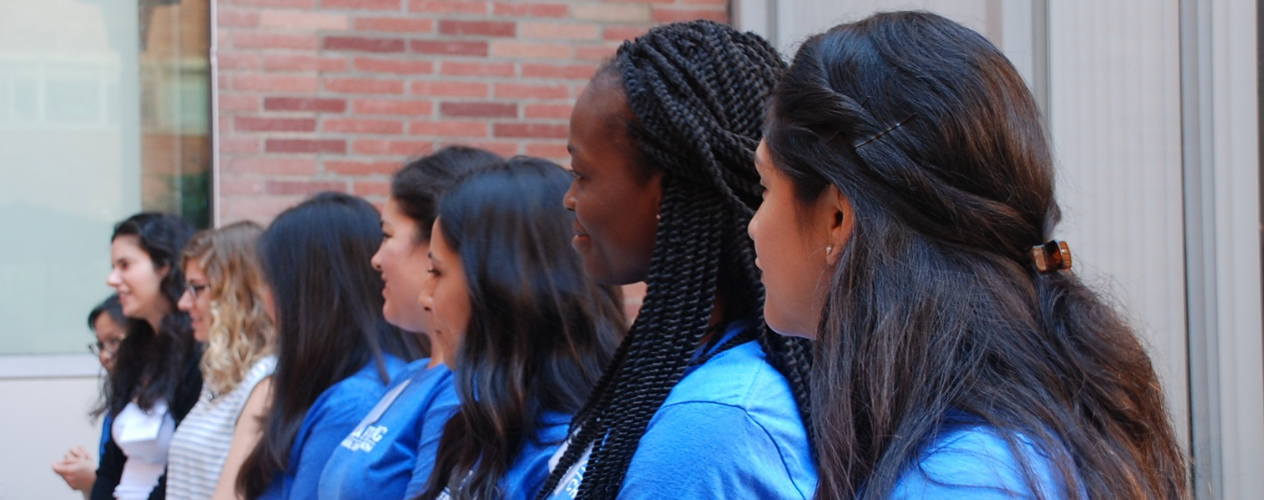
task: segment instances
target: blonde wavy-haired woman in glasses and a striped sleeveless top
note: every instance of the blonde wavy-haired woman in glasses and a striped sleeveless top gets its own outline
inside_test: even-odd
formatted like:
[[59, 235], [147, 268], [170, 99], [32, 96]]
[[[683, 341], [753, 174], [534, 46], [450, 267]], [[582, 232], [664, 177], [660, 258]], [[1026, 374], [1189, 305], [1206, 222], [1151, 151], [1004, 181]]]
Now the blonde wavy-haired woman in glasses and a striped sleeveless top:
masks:
[[171, 441], [171, 500], [235, 499], [238, 471], [259, 439], [277, 366], [257, 253], [262, 232], [258, 223], [240, 221], [201, 231], [185, 245], [188, 285], [177, 306], [206, 351], [202, 395]]

